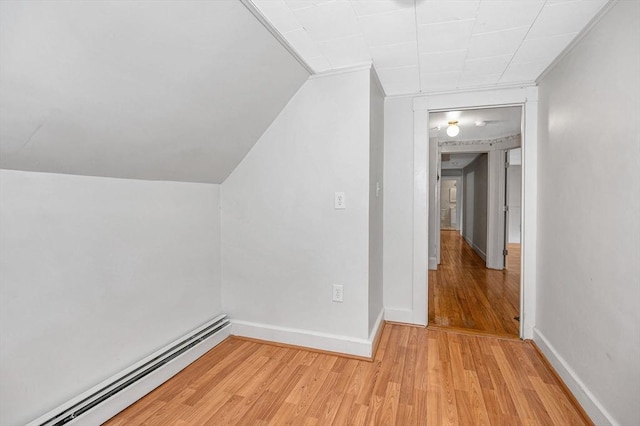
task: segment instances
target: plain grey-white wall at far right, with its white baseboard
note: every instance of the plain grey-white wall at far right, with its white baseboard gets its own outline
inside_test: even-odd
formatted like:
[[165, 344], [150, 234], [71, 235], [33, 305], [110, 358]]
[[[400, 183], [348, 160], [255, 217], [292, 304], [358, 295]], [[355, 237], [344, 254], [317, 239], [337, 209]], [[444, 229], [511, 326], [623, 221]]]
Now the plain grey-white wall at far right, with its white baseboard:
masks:
[[615, 3], [539, 90], [537, 340], [596, 424], [640, 424], [638, 22]]

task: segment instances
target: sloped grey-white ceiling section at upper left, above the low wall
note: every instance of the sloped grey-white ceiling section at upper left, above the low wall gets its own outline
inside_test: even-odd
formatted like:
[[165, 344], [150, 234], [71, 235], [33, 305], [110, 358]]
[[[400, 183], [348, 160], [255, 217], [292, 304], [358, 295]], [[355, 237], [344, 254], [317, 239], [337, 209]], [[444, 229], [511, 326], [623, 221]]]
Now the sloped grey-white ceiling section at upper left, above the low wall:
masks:
[[0, 8], [2, 168], [219, 183], [309, 75], [239, 0]]

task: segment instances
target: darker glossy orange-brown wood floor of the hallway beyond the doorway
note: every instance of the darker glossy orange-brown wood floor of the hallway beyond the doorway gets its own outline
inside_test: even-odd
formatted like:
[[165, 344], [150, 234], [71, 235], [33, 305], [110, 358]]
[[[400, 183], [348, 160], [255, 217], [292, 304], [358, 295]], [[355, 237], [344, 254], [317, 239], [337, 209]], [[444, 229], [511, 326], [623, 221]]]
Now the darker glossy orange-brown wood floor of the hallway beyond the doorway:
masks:
[[518, 337], [520, 245], [508, 269], [487, 269], [458, 231], [441, 232], [441, 263], [429, 271], [429, 326]]

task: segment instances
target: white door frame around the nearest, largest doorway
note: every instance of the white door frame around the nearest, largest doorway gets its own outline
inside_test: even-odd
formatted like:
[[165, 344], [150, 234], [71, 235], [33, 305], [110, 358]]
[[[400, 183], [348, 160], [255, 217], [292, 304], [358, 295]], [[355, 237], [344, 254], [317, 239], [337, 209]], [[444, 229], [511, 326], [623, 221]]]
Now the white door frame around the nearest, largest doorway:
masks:
[[520, 337], [531, 339], [536, 323], [537, 125], [535, 86], [443, 93], [413, 99], [413, 283], [412, 319], [428, 325], [429, 112], [520, 105], [522, 114], [522, 263]]

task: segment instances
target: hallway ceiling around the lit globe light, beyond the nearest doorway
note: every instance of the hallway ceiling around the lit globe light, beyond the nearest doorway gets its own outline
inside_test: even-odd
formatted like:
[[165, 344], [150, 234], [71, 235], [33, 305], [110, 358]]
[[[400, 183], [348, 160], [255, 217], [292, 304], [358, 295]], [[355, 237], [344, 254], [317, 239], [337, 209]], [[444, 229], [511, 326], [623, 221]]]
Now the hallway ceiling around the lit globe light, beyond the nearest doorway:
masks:
[[[441, 141], [489, 140], [520, 134], [522, 107], [499, 107], [429, 113], [429, 137]], [[447, 135], [450, 121], [457, 121], [460, 133]]]

